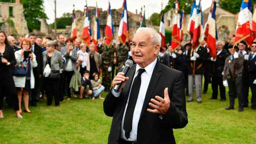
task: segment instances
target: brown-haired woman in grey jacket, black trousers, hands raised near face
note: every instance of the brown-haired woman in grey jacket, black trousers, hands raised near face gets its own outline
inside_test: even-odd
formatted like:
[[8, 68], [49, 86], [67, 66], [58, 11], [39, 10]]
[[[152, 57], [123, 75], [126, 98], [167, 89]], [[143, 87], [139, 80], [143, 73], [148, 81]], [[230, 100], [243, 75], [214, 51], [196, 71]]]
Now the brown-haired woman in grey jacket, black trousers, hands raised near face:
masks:
[[73, 40], [71, 38], [67, 38], [66, 47], [61, 47], [61, 50], [60, 50], [61, 54], [66, 60], [63, 63], [63, 73], [65, 75], [65, 79], [67, 79], [67, 83], [66, 83], [67, 90], [68, 90], [67, 101], [71, 100], [69, 84], [74, 74], [74, 71], [76, 71], [76, 61], [78, 59], [77, 51], [73, 48], [72, 41]]

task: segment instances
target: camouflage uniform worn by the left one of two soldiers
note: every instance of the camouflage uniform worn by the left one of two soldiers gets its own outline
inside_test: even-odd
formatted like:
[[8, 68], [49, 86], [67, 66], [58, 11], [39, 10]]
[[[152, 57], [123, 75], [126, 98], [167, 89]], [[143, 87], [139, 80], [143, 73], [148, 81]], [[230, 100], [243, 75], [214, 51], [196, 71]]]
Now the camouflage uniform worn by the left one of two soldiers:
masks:
[[101, 47], [102, 50], [102, 85], [105, 86], [105, 90], [109, 90], [111, 87], [111, 74], [108, 71], [109, 67], [112, 67], [114, 63], [114, 47]]

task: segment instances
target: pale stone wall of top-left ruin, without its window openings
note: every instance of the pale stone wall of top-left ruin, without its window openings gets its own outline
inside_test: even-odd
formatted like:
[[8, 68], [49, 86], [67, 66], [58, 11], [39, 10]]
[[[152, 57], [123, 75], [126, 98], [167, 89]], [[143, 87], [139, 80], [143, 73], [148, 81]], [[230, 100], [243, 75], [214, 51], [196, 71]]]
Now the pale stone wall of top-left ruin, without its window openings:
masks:
[[[9, 14], [9, 7], [13, 7], [13, 16]], [[16, 3], [0, 2], [0, 23], [4, 23], [10, 18], [14, 22], [14, 27], [19, 35], [27, 34], [28, 26], [23, 14], [23, 5], [16, 0]], [[13, 34], [12, 31], [7, 31]]]

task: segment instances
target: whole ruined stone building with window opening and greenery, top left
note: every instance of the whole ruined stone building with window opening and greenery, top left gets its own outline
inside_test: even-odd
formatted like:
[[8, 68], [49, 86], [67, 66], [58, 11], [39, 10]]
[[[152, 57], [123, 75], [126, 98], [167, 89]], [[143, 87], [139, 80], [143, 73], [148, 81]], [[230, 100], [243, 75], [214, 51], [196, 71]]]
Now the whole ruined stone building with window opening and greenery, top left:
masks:
[[20, 0], [0, 2], [0, 25], [8, 34], [24, 35], [29, 32]]

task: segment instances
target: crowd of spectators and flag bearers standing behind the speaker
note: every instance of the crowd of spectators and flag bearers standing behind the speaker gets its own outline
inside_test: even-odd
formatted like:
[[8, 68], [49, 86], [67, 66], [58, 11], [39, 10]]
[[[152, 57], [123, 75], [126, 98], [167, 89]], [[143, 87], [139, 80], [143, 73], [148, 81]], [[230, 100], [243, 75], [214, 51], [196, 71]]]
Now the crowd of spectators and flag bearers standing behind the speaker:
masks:
[[[157, 58], [162, 64], [183, 72], [187, 102], [194, 100], [195, 89], [196, 100], [202, 103], [204, 77], [203, 93], [207, 93], [209, 83], [212, 86], [210, 100], [217, 99], [219, 88], [220, 101], [226, 101], [225, 87], [229, 87], [230, 105], [226, 109], [234, 109], [238, 97], [238, 111], [243, 111], [248, 107], [251, 88], [251, 107], [256, 109], [256, 42], [251, 47], [244, 41], [233, 44], [232, 37], [216, 43], [216, 58], [211, 56], [205, 42], [195, 50], [191, 43], [179, 49], [173, 49], [169, 43], [159, 52]], [[127, 59], [132, 60], [133, 43], [116, 43], [113, 40], [107, 46], [101, 39], [97, 45], [93, 42], [88, 45], [80, 38], [73, 40], [59, 35], [52, 39], [33, 32], [16, 40], [0, 31], [0, 118], [4, 117], [4, 99], [18, 118], [22, 118], [22, 97], [23, 112], [27, 113], [31, 113], [29, 106], [37, 106], [40, 99], [47, 99], [47, 106], [52, 105], [53, 98], [55, 106], [77, 95], [78, 99], [103, 99], [101, 93], [110, 91], [114, 75]]]

